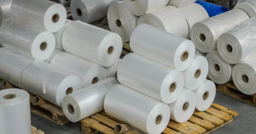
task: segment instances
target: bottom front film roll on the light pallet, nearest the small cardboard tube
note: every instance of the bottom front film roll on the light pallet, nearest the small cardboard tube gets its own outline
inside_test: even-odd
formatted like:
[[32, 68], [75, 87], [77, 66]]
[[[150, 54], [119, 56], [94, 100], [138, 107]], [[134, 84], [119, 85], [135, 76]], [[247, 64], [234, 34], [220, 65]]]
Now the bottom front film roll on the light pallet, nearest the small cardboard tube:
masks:
[[108, 115], [148, 134], [162, 133], [170, 117], [167, 104], [122, 84], [109, 90], [104, 109]]

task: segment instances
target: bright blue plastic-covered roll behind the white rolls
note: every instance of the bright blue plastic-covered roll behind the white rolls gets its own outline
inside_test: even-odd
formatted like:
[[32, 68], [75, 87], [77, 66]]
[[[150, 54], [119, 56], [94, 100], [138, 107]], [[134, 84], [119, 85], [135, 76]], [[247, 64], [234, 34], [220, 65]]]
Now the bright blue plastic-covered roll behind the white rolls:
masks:
[[200, 4], [201, 6], [203, 6], [210, 17], [228, 11], [228, 9], [224, 6], [219, 6], [219, 5], [212, 4], [212, 3], [209, 3], [209, 2], [205, 2], [205, 1], [201, 1], [201, 0], [197, 0], [195, 3]]

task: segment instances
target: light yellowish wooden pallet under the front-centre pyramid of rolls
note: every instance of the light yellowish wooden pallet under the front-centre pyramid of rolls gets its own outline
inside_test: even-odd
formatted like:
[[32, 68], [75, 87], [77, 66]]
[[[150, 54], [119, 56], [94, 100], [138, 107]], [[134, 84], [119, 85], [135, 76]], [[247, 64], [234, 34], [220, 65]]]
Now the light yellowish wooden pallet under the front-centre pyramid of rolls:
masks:
[[[193, 116], [184, 123], [177, 123], [170, 120], [167, 128], [162, 134], [208, 134], [218, 128], [233, 121], [233, 116], [239, 113], [218, 104], [212, 106], [204, 112], [195, 110]], [[80, 121], [82, 132], [85, 134], [116, 134], [114, 126], [117, 123], [125, 124], [101, 111]], [[126, 134], [135, 134], [133, 130]]]

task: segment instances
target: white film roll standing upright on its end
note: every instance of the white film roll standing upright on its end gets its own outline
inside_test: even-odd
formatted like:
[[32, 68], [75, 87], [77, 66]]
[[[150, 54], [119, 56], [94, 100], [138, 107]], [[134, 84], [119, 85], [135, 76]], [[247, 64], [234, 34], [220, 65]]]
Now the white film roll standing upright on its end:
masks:
[[28, 92], [22, 89], [1, 90], [0, 110], [1, 134], [31, 134]]

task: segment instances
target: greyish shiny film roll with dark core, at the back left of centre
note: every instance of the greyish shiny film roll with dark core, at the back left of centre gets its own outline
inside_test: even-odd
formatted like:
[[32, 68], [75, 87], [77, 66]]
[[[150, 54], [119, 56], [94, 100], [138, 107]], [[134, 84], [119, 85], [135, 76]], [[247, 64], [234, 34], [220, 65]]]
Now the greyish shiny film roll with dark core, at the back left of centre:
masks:
[[72, 0], [70, 11], [74, 20], [93, 23], [107, 17], [109, 6], [119, 0]]

